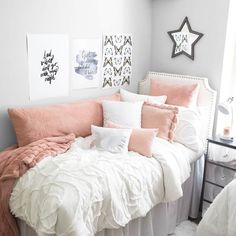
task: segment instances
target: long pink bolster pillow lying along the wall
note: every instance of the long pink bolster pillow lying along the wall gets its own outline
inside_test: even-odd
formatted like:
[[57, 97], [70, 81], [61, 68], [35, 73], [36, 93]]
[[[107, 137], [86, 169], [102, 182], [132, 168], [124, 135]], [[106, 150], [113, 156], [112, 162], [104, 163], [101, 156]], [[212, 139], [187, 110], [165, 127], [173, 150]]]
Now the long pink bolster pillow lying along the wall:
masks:
[[8, 109], [19, 147], [51, 136], [90, 135], [92, 124], [102, 126], [102, 100], [119, 101], [120, 95], [46, 107]]

